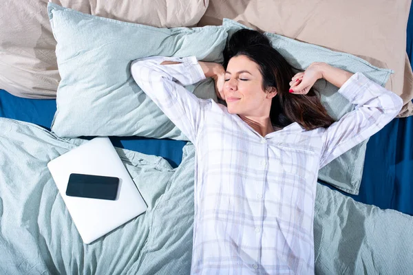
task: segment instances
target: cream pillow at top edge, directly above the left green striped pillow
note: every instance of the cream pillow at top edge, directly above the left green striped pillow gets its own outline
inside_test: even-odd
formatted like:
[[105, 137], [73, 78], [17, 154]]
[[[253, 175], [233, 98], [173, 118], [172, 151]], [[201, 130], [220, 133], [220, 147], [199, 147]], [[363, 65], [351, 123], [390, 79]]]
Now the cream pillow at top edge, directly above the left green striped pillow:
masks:
[[200, 21], [209, 0], [50, 0], [50, 2], [98, 17], [140, 23], [158, 28], [194, 26]]

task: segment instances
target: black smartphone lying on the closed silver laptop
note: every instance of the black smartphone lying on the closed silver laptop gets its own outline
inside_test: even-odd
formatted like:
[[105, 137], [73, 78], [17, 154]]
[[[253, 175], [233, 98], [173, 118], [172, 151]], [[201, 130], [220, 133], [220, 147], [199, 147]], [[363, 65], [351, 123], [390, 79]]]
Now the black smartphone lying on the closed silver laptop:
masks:
[[66, 195], [91, 199], [115, 200], [118, 195], [118, 177], [70, 174]]

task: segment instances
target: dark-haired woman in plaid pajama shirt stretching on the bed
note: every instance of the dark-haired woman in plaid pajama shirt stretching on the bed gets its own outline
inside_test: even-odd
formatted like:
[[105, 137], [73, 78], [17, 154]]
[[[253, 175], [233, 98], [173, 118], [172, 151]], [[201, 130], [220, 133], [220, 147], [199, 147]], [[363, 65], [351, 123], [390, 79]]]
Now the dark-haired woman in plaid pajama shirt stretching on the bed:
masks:
[[[318, 170], [379, 131], [402, 100], [325, 63], [293, 69], [259, 32], [235, 33], [226, 68], [195, 57], [134, 61], [136, 83], [196, 148], [193, 274], [313, 274]], [[226, 106], [182, 85], [215, 79]], [[312, 87], [357, 104], [334, 122]]]

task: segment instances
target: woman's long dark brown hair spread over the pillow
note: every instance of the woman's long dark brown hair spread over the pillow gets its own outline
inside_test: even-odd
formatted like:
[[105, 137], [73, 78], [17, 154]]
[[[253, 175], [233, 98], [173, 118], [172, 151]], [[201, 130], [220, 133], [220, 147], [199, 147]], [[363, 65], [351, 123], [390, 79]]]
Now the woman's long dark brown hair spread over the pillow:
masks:
[[260, 67], [264, 91], [271, 87], [277, 89], [277, 96], [271, 102], [270, 119], [274, 126], [288, 126], [297, 122], [310, 131], [319, 127], [328, 127], [335, 120], [328, 115], [321, 105], [319, 94], [311, 88], [306, 95], [290, 94], [290, 81], [295, 75], [293, 68], [271, 47], [264, 34], [255, 30], [239, 30], [233, 34], [224, 50], [224, 67], [234, 56], [246, 56]]

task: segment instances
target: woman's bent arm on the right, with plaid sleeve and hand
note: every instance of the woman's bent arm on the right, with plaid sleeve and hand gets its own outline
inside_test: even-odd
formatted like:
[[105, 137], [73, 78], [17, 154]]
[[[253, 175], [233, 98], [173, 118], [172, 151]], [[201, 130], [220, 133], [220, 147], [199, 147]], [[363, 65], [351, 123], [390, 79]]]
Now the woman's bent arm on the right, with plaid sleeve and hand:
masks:
[[313, 63], [290, 82], [290, 93], [307, 94], [314, 83], [324, 78], [339, 87], [339, 93], [356, 107], [321, 132], [320, 168], [377, 133], [403, 107], [403, 100], [361, 73], [352, 74], [326, 63]]

